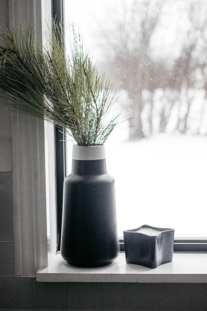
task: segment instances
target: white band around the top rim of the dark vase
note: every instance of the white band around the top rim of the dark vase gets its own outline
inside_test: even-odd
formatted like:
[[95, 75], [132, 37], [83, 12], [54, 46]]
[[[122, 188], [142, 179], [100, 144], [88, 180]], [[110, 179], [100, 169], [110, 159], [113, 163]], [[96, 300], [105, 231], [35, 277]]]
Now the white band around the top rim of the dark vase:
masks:
[[73, 146], [73, 160], [106, 159], [105, 146]]

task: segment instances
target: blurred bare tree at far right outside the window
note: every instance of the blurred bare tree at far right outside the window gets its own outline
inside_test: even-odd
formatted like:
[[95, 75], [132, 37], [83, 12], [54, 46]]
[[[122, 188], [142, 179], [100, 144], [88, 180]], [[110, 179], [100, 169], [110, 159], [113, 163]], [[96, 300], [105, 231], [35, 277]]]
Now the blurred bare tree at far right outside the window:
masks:
[[[200, 16], [204, 4], [203, 0], [191, 1], [189, 3], [187, 11], [189, 27], [185, 35], [180, 57], [175, 62], [177, 85], [180, 86], [180, 109], [178, 111], [176, 129], [182, 134], [189, 130], [188, 118], [193, 100], [193, 96], [189, 94], [189, 89], [197, 89], [195, 72], [198, 68], [201, 69], [207, 65], [207, 42], [205, 42], [206, 33], [204, 31], [207, 26], [207, 18], [206, 16], [204, 18]], [[201, 61], [204, 54], [205, 62]], [[183, 105], [185, 105], [185, 109], [183, 109]], [[180, 110], [184, 110], [184, 114], [180, 114]]]

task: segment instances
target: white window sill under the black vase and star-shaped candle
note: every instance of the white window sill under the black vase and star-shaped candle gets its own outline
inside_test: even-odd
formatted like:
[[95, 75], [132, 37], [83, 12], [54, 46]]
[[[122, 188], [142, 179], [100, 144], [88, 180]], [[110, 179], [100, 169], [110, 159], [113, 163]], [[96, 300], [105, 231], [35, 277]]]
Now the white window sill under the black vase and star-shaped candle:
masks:
[[207, 283], [207, 253], [174, 253], [173, 261], [155, 269], [128, 264], [125, 254], [105, 267], [78, 268], [68, 265], [60, 254], [47, 268], [39, 268], [38, 282], [138, 282]]

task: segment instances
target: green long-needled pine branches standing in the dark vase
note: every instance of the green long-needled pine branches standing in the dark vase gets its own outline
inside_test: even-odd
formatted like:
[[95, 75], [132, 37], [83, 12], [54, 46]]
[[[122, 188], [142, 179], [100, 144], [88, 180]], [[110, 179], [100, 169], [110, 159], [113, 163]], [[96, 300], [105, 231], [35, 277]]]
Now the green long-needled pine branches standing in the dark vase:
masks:
[[31, 26], [2, 30], [0, 101], [60, 126], [79, 146], [102, 145], [121, 121], [112, 112], [115, 92], [99, 76], [73, 25], [69, 36], [65, 55], [65, 33], [55, 21], [46, 48], [35, 44]]

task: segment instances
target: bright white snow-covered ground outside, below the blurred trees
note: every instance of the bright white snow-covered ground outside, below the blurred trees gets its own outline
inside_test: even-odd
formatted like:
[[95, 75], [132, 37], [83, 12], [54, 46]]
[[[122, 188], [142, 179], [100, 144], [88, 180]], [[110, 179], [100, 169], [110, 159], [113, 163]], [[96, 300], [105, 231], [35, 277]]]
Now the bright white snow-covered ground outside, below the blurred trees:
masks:
[[119, 236], [147, 224], [174, 228], [176, 237], [207, 237], [207, 137], [157, 134], [127, 142], [118, 132], [106, 141], [106, 163], [115, 178]]

